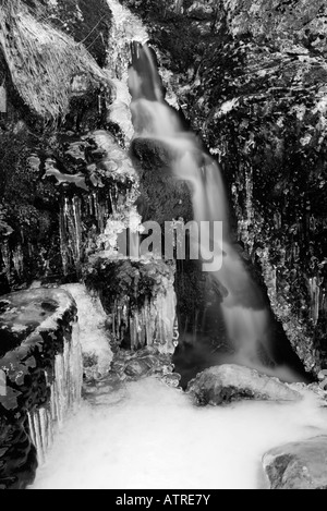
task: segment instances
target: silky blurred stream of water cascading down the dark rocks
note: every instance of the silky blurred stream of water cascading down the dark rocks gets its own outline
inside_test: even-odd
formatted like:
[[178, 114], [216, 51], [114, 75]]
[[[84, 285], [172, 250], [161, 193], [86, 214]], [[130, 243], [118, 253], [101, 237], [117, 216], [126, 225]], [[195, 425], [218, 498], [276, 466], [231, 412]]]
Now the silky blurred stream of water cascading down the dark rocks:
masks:
[[[207, 226], [222, 222], [223, 241], [221, 246], [215, 244], [214, 257], [220, 258], [222, 252], [223, 260], [213, 276], [223, 294], [221, 313], [234, 351], [233, 362], [286, 380], [298, 379], [286, 366], [277, 367], [271, 349], [270, 312], [231, 243], [229, 207], [220, 169], [202, 149], [196, 137], [184, 132], [178, 113], [166, 104], [161, 80], [146, 45], [132, 45], [129, 85], [136, 136], [157, 139], [169, 148], [173, 174], [189, 184], [195, 220], [206, 221]], [[209, 236], [209, 232], [207, 234]], [[201, 253], [204, 251], [202, 246]]]

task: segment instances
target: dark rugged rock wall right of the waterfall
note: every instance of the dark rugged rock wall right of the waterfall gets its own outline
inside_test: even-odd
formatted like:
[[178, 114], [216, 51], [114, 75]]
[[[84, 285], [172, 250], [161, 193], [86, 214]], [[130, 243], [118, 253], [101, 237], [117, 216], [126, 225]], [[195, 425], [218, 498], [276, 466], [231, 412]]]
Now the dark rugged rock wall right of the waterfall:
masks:
[[[136, 5], [137, 3], [137, 5]], [[318, 1], [124, 4], [221, 163], [239, 240], [307, 369], [326, 365], [326, 37]], [[165, 77], [165, 72], [162, 72]]]

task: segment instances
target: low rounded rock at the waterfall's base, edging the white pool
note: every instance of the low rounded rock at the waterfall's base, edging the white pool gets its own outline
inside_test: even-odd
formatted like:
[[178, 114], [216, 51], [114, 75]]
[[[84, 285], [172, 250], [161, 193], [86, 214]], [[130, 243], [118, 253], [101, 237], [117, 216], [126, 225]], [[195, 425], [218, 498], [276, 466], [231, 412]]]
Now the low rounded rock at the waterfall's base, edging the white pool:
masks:
[[222, 405], [244, 399], [296, 401], [301, 394], [277, 378], [238, 365], [221, 365], [204, 370], [190, 381], [187, 393], [197, 405]]

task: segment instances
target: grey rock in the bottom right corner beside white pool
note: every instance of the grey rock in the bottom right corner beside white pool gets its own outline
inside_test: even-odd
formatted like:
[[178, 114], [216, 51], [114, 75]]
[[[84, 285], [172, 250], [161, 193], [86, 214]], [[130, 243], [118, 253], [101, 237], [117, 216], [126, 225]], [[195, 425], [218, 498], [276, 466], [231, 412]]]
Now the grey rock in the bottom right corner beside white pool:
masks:
[[267, 452], [264, 470], [271, 489], [327, 489], [327, 436]]

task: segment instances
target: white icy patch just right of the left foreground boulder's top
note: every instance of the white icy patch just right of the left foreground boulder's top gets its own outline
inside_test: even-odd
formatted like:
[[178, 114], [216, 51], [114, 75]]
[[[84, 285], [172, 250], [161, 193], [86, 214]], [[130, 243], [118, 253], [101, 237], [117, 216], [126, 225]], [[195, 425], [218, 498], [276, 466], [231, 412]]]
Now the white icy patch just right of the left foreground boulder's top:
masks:
[[84, 284], [65, 284], [61, 288], [73, 296], [77, 305], [83, 355], [95, 355], [97, 373], [106, 375], [110, 369], [113, 354], [105, 329], [107, 316], [100, 300], [90, 296]]

